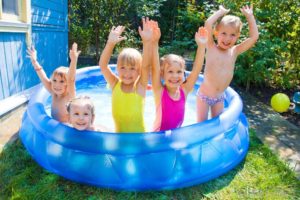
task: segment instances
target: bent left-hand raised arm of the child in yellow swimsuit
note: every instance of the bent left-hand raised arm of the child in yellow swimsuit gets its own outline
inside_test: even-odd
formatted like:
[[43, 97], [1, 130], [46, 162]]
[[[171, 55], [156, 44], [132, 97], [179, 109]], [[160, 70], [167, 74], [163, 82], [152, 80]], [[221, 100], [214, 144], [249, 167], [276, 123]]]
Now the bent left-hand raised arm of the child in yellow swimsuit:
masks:
[[101, 68], [101, 72], [104, 75], [105, 80], [108, 82], [109, 86], [113, 88], [117, 82], [118, 77], [111, 71], [110, 67], [108, 67], [109, 59], [111, 54], [115, 48], [115, 45], [122, 40], [126, 39], [126, 37], [122, 37], [121, 34], [124, 31], [124, 26], [112, 27], [108, 40], [106, 42], [105, 48], [101, 54], [99, 65]]

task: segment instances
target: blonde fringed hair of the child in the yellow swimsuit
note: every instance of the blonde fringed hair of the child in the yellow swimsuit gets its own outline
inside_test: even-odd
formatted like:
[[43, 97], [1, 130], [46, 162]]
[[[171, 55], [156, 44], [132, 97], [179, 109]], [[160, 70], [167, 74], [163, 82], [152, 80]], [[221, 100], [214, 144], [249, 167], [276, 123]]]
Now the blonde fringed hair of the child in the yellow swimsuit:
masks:
[[136, 66], [139, 70], [142, 66], [142, 55], [141, 53], [133, 48], [124, 48], [117, 60], [117, 67], [121, 67], [122, 65], [128, 66]]

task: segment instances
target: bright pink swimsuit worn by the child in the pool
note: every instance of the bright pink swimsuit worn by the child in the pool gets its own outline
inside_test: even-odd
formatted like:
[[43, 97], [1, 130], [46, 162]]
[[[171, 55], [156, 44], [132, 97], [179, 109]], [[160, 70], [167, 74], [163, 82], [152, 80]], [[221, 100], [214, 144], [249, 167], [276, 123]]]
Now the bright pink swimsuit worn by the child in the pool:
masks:
[[[163, 88], [161, 97], [161, 123], [156, 131], [179, 128], [182, 125], [185, 111], [185, 95], [180, 88], [180, 99], [173, 100], [166, 89]], [[159, 108], [158, 108], [159, 109]]]

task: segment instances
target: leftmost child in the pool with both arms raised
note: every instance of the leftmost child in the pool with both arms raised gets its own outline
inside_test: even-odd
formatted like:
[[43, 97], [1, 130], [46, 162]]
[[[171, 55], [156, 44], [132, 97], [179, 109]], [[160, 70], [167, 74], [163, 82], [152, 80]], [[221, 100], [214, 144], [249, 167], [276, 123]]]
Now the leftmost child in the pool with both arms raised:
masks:
[[49, 79], [37, 61], [35, 48], [31, 47], [27, 49], [27, 55], [31, 60], [34, 70], [52, 96], [51, 116], [60, 122], [68, 122], [66, 104], [75, 97], [75, 75], [79, 54], [80, 51], [77, 51], [77, 44], [74, 43], [69, 53], [71, 59], [70, 67], [56, 68]]

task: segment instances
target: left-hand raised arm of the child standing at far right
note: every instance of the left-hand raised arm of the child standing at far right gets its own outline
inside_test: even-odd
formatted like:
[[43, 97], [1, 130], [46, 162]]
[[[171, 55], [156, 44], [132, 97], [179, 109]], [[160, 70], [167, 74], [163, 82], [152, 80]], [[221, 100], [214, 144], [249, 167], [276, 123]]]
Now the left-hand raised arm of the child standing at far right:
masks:
[[223, 6], [219, 6], [219, 10], [214, 12], [205, 22], [205, 28], [208, 32], [208, 41], [207, 45], [211, 46], [214, 45], [214, 33], [213, 33], [213, 25], [216, 23], [216, 21], [222, 17], [223, 15], [227, 14], [230, 10], [225, 9]]

